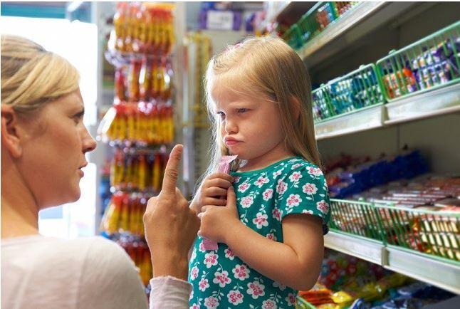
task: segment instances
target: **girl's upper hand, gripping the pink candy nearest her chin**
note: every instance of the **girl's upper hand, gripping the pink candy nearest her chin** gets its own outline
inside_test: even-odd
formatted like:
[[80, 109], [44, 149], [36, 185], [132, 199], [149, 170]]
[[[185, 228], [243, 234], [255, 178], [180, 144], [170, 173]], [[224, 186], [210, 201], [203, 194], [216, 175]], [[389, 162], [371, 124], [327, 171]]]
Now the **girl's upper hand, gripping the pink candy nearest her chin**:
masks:
[[225, 206], [227, 189], [231, 187], [233, 180], [233, 177], [225, 173], [214, 173], [206, 177], [192, 202], [192, 209], [199, 214], [205, 205]]

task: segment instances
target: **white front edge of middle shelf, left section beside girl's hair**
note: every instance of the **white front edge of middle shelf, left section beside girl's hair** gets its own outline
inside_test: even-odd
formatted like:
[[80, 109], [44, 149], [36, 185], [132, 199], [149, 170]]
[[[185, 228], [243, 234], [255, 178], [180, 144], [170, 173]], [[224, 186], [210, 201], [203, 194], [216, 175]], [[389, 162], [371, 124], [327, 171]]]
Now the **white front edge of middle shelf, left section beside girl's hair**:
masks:
[[339, 115], [330, 120], [315, 124], [316, 140], [324, 140], [330, 137], [382, 127], [384, 120], [384, 105], [377, 105], [350, 114]]

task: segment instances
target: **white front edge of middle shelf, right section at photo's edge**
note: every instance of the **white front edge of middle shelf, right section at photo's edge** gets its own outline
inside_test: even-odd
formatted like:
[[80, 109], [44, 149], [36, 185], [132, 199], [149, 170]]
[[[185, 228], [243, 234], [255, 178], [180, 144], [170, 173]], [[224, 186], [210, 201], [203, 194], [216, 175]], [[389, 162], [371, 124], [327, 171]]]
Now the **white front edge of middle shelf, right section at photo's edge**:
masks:
[[387, 103], [388, 120], [394, 125], [460, 111], [460, 83]]

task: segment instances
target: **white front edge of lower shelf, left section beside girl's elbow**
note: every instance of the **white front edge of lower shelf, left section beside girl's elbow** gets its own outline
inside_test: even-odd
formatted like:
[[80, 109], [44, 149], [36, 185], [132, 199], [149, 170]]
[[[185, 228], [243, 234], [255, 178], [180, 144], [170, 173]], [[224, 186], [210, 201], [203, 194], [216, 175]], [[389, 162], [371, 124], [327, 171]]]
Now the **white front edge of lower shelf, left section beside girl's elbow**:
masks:
[[378, 241], [360, 238], [359, 236], [348, 236], [335, 231], [330, 231], [326, 234], [324, 246], [379, 265], [382, 265], [385, 249], [383, 244]]

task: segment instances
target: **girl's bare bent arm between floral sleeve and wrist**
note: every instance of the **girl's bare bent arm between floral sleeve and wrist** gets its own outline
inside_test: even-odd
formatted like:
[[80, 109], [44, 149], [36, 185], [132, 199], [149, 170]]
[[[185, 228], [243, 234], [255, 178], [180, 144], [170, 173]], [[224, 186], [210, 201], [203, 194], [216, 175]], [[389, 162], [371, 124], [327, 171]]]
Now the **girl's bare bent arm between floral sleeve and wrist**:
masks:
[[320, 274], [324, 240], [321, 219], [291, 214], [283, 219], [283, 243], [267, 239], [239, 221], [225, 243], [263, 276], [296, 290], [310, 290]]

